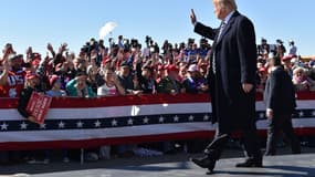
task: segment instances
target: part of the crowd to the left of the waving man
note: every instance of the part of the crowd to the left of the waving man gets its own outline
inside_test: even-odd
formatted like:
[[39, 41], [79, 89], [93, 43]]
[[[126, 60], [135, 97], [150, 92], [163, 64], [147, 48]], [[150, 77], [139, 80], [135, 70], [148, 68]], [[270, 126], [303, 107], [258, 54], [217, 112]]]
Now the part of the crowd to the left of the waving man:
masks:
[[172, 48], [166, 41], [160, 54], [151, 40], [144, 50], [136, 40], [122, 40], [105, 48], [102, 40], [92, 39], [77, 55], [70, 53], [65, 43], [56, 52], [48, 44], [46, 56], [32, 48], [25, 56], [15, 54], [7, 44], [1, 59], [0, 96], [19, 97], [28, 75], [38, 77], [35, 88], [51, 96], [207, 92], [208, 43], [197, 48], [190, 41], [187, 46]]

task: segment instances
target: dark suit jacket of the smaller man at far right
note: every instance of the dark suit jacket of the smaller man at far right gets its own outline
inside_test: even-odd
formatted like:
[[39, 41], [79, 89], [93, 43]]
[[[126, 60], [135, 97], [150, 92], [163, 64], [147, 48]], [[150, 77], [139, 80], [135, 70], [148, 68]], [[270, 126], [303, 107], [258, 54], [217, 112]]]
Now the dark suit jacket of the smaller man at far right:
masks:
[[269, 76], [264, 91], [266, 108], [275, 114], [290, 114], [296, 107], [295, 90], [291, 76], [277, 66]]

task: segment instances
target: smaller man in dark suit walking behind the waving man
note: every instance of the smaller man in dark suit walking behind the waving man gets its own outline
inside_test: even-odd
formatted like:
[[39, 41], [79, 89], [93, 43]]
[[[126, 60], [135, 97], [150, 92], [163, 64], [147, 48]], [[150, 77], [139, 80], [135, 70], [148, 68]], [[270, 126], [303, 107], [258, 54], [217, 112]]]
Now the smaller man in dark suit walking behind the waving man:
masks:
[[292, 114], [296, 107], [294, 85], [291, 76], [281, 66], [280, 58], [270, 59], [269, 64], [271, 74], [264, 91], [269, 122], [265, 155], [275, 155], [276, 138], [281, 131], [290, 140], [292, 153], [300, 154], [300, 142], [292, 127]]

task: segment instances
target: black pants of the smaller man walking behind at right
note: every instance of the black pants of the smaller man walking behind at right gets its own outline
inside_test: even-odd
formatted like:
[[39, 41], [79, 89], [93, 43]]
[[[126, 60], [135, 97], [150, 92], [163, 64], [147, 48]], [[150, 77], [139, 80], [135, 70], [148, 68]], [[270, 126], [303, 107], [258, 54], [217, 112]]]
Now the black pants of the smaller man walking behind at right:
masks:
[[281, 131], [285, 135], [285, 138], [287, 138], [290, 142], [292, 153], [300, 154], [300, 140], [294, 133], [291, 114], [274, 114], [273, 118], [269, 119], [265, 155], [275, 155], [276, 142], [281, 135]]

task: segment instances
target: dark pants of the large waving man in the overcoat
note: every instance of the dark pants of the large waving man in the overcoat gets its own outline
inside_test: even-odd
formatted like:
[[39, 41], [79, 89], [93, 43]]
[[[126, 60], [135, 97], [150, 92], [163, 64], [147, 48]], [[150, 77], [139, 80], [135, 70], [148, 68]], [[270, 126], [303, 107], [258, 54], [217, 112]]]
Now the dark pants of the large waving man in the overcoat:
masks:
[[[261, 160], [262, 155], [260, 150], [259, 136], [256, 134], [255, 121], [244, 121], [243, 123], [240, 123], [240, 126], [238, 126], [237, 129], [240, 129], [243, 134], [245, 156], [248, 158]], [[217, 128], [214, 139], [204, 149], [206, 155], [211, 159], [218, 160], [229, 139], [229, 135], [237, 129], [232, 128], [230, 131], [222, 131]]]

